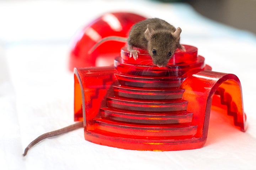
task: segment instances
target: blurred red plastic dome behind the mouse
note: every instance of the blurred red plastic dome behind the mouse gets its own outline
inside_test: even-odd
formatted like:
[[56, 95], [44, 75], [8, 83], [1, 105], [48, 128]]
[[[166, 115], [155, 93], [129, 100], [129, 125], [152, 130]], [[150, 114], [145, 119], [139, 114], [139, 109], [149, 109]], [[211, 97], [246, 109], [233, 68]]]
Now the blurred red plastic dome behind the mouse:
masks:
[[106, 36], [128, 37], [133, 24], [144, 19], [146, 18], [134, 13], [113, 12], [106, 13], [87, 24], [74, 38], [69, 55], [69, 69], [73, 71], [75, 67], [102, 66], [99, 65], [102, 60], [104, 66], [112, 65], [114, 58], [120, 55], [120, 49], [125, 42], [108, 41], [98, 46], [92, 53], [89, 54], [88, 51]]

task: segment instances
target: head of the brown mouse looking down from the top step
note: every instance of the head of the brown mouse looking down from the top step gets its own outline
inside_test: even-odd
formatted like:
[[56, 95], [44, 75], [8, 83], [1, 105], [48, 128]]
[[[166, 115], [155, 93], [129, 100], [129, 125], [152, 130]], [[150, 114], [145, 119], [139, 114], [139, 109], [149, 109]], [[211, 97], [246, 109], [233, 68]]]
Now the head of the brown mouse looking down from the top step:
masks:
[[145, 38], [148, 40], [148, 52], [153, 63], [158, 67], [165, 67], [180, 44], [181, 29], [155, 31], [147, 25]]

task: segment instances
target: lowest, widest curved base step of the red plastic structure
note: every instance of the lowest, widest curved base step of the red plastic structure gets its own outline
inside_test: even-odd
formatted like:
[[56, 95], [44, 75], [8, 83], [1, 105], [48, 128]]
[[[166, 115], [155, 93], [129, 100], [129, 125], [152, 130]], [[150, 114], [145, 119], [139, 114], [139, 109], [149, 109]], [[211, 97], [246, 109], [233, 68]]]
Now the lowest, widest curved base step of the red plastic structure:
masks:
[[122, 149], [140, 151], [177, 151], [201, 148], [205, 140], [197, 136], [148, 137], [110, 134], [100, 130], [85, 131], [85, 139]]

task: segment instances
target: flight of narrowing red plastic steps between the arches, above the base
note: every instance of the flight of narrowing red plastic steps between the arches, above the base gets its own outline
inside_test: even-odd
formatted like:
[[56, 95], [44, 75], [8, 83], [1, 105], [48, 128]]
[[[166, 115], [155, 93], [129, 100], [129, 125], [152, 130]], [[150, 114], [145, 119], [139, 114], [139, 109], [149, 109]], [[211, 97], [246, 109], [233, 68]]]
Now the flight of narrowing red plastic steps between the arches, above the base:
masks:
[[[120, 86], [113, 86], [114, 97], [107, 97], [107, 108], [101, 108], [101, 119], [94, 120], [95, 132], [111, 132], [113, 135], [129, 135], [133, 138], [190, 136], [196, 134], [197, 125], [191, 123], [193, 113], [187, 112], [188, 101], [182, 100], [182, 81], [177, 78], [152, 79], [116, 74]], [[164, 83], [163, 83], [164, 82]], [[175, 82], [175, 83], [174, 83]], [[146, 87], [144, 87], [146, 86]], [[135, 131], [134, 131], [135, 129]]]

